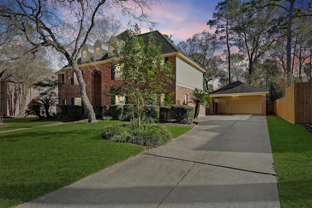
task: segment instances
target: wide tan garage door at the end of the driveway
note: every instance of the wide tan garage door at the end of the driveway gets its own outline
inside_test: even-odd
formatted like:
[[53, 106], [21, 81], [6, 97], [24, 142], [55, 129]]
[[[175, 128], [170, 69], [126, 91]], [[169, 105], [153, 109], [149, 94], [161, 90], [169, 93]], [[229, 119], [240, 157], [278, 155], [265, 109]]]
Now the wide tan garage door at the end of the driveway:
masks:
[[230, 114], [261, 114], [261, 100], [228, 100], [227, 113]]

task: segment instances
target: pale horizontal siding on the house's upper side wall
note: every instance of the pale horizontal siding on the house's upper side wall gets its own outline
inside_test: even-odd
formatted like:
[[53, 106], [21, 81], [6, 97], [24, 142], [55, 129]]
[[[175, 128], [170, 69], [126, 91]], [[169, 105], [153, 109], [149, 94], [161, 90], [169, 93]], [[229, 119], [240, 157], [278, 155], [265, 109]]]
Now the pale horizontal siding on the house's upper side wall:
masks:
[[203, 74], [176, 57], [176, 85], [194, 90], [203, 90]]

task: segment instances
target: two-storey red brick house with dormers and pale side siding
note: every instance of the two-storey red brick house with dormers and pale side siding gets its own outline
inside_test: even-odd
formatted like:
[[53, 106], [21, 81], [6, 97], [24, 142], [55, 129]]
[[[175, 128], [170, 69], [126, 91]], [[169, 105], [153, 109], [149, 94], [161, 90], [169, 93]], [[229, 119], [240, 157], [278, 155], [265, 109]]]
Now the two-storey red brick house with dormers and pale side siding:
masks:
[[[197, 65], [190, 57], [179, 50], [168, 38], [164, 37], [159, 31], [151, 32], [156, 37], [156, 43], [162, 44], [162, 56], [166, 61], [174, 65], [174, 78], [172, 84], [164, 87], [161, 97], [168, 93], [174, 93], [174, 104], [189, 104], [190, 94], [195, 88], [203, 89], [203, 73], [205, 70]], [[79, 59], [79, 69], [82, 70], [83, 78], [86, 83], [86, 93], [92, 105], [112, 105], [124, 104], [124, 99], [116, 96], [111, 99], [103, 95], [108, 92], [111, 86], [118, 87], [123, 84], [123, 80], [118, 74], [118, 67], [112, 64], [110, 57], [113, 52], [111, 41], [122, 41], [125, 38], [126, 31], [121, 33], [117, 39], [110, 38], [107, 42], [97, 40], [91, 46], [85, 44], [81, 50]], [[147, 39], [149, 33], [140, 36]], [[62, 86], [59, 88], [59, 105], [80, 105], [83, 109], [83, 103], [79, 95], [78, 81], [71, 66], [63, 67], [56, 73]], [[163, 105], [160, 101], [159, 105]], [[60, 110], [59, 110], [60, 111]], [[60, 112], [58, 112], [60, 113]], [[205, 108], [201, 108], [199, 115], [205, 115]]]

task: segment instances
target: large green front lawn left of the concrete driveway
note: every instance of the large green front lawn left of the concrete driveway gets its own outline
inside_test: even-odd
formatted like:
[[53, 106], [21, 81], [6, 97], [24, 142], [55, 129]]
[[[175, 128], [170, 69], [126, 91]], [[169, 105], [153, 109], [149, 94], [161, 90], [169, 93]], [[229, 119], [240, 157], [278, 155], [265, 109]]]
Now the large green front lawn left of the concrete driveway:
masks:
[[[121, 122], [78, 122], [1, 132], [0, 207], [30, 201], [144, 151], [141, 146], [102, 139], [102, 128], [114, 123]], [[27, 125], [25, 121], [20, 127]], [[175, 137], [190, 129], [168, 127]]]

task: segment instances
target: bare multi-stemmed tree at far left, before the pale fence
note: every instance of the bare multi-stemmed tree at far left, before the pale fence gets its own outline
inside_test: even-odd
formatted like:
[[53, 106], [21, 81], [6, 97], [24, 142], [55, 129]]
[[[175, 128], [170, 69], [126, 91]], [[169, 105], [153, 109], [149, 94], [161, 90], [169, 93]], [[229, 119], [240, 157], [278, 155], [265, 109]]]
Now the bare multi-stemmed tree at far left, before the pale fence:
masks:
[[19, 48], [15, 48], [14, 45], [9, 46], [11, 49], [9, 53], [5, 53], [7, 49], [2, 47], [2, 59], [6, 57], [8, 60], [3, 60], [0, 65], [2, 71], [0, 79], [8, 81], [8, 110], [10, 115], [15, 115], [17, 107], [20, 114], [24, 112], [30, 85], [50, 76], [52, 72], [41, 55], [37, 53], [23, 55], [28, 48], [27, 44], [20, 44]]

